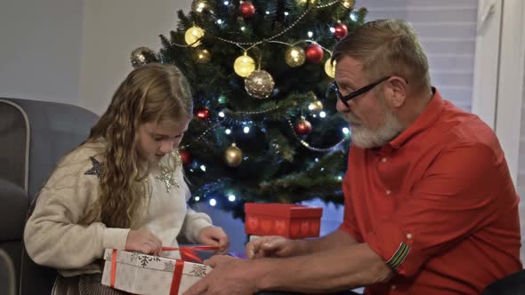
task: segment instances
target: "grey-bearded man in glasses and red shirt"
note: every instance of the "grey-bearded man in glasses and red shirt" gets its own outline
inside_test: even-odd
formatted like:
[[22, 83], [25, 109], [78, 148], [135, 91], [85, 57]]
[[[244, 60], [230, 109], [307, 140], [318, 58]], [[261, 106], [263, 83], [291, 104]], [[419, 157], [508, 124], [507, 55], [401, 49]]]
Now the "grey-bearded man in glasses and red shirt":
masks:
[[186, 294], [479, 294], [521, 269], [519, 199], [496, 135], [431, 86], [408, 22], [368, 22], [334, 59], [352, 140], [341, 227], [261, 238], [246, 245], [250, 260], [214, 257]]

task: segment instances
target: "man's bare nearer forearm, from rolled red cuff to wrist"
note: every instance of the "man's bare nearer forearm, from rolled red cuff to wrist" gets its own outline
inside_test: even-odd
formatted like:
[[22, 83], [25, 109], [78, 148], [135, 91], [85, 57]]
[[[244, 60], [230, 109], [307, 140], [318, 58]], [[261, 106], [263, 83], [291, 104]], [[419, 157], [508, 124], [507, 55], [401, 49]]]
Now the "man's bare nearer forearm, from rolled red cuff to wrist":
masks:
[[366, 243], [287, 259], [257, 259], [259, 290], [339, 291], [386, 282], [392, 270]]

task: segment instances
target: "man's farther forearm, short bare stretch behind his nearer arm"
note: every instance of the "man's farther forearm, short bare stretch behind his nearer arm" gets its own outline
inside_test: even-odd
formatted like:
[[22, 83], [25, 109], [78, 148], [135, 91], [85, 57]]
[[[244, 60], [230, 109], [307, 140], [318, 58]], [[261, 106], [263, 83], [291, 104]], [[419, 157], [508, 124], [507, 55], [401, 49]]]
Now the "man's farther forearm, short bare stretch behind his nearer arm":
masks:
[[297, 240], [295, 242], [299, 244], [297, 255], [312, 254], [358, 243], [351, 235], [339, 229], [318, 239]]

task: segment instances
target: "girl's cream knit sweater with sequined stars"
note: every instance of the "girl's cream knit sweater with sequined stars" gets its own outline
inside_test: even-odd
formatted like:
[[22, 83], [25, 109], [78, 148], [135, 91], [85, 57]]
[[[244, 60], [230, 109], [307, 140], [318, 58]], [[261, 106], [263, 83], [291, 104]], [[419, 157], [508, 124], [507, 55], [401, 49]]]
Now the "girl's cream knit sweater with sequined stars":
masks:
[[[103, 151], [101, 141], [86, 143], [62, 158], [40, 191], [26, 224], [24, 242], [31, 259], [57, 268], [64, 276], [100, 272], [95, 261], [102, 258], [104, 249], [125, 249], [129, 228], [106, 227], [100, 220], [88, 226], [78, 224], [100, 194], [93, 168], [102, 163]], [[166, 155], [161, 163], [167, 161], [173, 157]], [[147, 182], [151, 199], [141, 227], [147, 227], [165, 246], [176, 247], [179, 234], [198, 243], [200, 230], [212, 223], [206, 214], [188, 208], [190, 190], [182, 167], [165, 171], [164, 176], [160, 170], [152, 171]], [[177, 258], [178, 253], [165, 252], [163, 256]]]

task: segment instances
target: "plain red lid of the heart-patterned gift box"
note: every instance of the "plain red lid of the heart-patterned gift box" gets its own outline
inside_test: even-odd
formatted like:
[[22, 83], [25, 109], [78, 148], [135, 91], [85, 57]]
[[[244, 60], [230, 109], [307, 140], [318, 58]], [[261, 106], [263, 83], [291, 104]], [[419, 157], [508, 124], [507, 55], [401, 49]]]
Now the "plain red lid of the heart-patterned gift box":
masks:
[[323, 209], [295, 203], [245, 203], [247, 214], [257, 214], [280, 218], [320, 218]]

